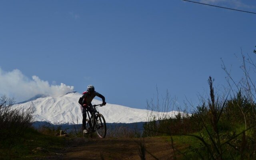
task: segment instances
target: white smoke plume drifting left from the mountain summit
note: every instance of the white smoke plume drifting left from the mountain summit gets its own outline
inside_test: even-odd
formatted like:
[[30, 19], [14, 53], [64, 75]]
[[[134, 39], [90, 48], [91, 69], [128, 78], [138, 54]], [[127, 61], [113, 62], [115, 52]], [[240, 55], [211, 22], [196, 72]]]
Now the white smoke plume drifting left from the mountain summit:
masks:
[[73, 92], [74, 86], [50, 85], [48, 81], [41, 80], [38, 76], [32, 76], [32, 79], [26, 77], [18, 69], [11, 72], [4, 72], [0, 68], [0, 94], [12, 98], [16, 102], [28, 100], [36, 94], [46, 94], [49, 96], [61, 96], [68, 92]]

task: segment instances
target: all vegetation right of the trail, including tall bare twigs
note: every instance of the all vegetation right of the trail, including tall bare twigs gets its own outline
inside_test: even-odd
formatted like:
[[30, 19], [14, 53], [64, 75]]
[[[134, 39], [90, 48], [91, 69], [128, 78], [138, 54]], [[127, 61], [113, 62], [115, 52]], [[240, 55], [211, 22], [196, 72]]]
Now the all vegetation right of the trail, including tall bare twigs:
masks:
[[[172, 142], [173, 150], [184, 159], [256, 159], [256, 85], [252, 76], [256, 73], [256, 64], [249, 55], [248, 58], [242, 52], [241, 55], [240, 68], [244, 77], [238, 82], [223, 62], [228, 92], [222, 96], [216, 94], [214, 80], [209, 77], [210, 94], [207, 99], [202, 99], [202, 104], [195, 107], [194, 112], [180, 112], [175, 117], [160, 120], [153, 116], [144, 124], [143, 136], [196, 138], [198, 142], [183, 151], [175, 149]], [[159, 99], [157, 101], [160, 104]]]

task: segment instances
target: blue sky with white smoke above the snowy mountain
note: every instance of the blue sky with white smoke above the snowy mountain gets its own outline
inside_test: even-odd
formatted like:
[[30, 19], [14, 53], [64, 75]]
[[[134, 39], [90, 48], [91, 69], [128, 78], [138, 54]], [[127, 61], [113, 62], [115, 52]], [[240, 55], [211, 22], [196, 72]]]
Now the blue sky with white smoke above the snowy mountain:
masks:
[[[256, 12], [252, 0], [195, 1]], [[144, 109], [157, 85], [197, 105], [209, 76], [226, 86], [220, 58], [242, 76], [234, 54], [254, 58], [255, 28], [256, 14], [182, 0], [3, 0], [0, 93], [22, 101], [93, 84], [108, 103]]]

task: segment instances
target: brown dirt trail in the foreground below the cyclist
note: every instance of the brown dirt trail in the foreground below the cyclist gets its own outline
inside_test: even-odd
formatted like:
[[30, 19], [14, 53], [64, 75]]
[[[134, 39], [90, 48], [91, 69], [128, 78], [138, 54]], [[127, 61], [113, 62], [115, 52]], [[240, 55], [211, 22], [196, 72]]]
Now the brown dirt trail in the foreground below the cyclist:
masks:
[[[170, 142], [162, 138], [93, 139], [72, 138], [62, 160], [140, 160], [139, 143], [159, 160], [171, 160]], [[146, 160], [155, 160], [146, 153]]]

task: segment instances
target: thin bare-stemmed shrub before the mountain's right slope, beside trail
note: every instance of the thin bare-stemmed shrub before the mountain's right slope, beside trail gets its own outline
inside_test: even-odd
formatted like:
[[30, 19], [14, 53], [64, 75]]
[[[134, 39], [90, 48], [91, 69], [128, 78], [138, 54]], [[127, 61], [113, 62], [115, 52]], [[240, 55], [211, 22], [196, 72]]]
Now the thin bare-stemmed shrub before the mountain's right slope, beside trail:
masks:
[[[165, 96], [159, 98], [158, 88], [156, 87], [156, 100], [147, 100], [147, 118], [143, 128], [143, 136], [160, 136], [188, 134], [198, 131], [198, 127], [193, 125], [191, 114], [188, 114], [187, 106], [180, 110], [176, 106], [177, 98], [170, 96], [166, 90]], [[174, 108], [178, 110], [174, 112]]]

